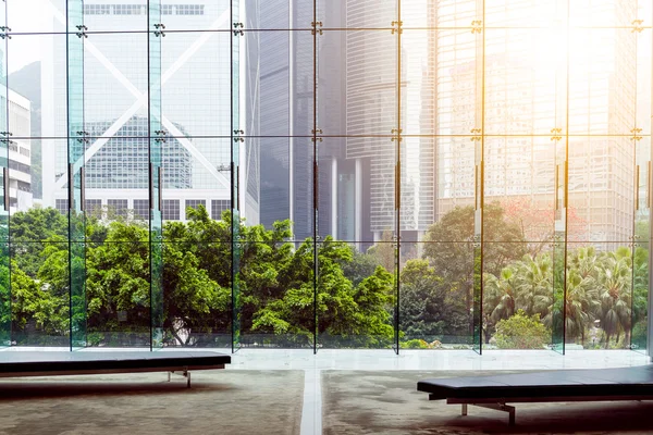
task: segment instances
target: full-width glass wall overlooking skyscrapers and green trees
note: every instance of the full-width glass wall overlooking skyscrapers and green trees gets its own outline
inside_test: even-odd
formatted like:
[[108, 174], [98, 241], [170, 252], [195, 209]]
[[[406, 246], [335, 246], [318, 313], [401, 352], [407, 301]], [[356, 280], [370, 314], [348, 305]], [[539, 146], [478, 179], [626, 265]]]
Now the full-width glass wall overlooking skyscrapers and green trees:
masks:
[[4, 0], [0, 344], [649, 348], [650, 0]]

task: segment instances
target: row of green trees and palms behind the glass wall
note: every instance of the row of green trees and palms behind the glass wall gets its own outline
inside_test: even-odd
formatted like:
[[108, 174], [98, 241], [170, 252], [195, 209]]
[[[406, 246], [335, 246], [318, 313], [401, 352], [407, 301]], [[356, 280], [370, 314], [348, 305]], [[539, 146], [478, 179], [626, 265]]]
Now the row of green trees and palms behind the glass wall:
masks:
[[[402, 256], [403, 347], [470, 345], [480, 279], [483, 315], [476, 323], [489, 346], [559, 343], [563, 310], [568, 343], [606, 348], [645, 343], [648, 249], [568, 249], [563, 294], [554, 290], [564, 264], [559, 256], [547, 244], [527, 243], [523, 225], [498, 203], [484, 210], [481, 274], [473, 213], [471, 207], [453, 209], [431, 226], [419, 250]], [[160, 319], [153, 326], [163, 331], [167, 346], [227, 346], [234, 312], [245, 346], [308, 347], [316, 334], [325, 347], [394, 341], [392, 244], [360, 252], [331, 237], [292, 243], [288, 221], [272, 228], [235, 223], [238, 237], [232, 244], [229, 212], [220, 221], [202, 207], [187, 214], [186, 223], [165, 223], [161, 241], [150, 241], [147, 222], [130, 216], [88, 216], [85, 239], [69, 240], [69, 220], [53, 209], [14, 214], [11, 248], [2, 256], [12, 260], [0, 264], [0, 283], [11, 276], [11, 310], [4, 300], [0, 321], [11, 323], [16, 344], [66, 344], [69, 251], [82, 248], [85, 259], [75, 259], [82, 263], [72, 269], [85, 271], [85, 312], [75, 315], [85, 318], [89, 345], [146, 346], [152, 319]], [[161, 307], [152, 306], [159, 294]], [[156, 310], [160, 316], [152, 316]]]

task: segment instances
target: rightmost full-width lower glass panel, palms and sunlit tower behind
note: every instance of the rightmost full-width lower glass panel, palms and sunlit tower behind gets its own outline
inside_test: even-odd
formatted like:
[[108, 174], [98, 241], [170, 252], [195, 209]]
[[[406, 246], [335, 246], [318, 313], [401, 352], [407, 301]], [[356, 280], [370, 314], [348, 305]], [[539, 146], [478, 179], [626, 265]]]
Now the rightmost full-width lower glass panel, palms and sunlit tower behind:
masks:
[[634, 162], [628, 137], [569, 140], [567, 348], [630, 346]]

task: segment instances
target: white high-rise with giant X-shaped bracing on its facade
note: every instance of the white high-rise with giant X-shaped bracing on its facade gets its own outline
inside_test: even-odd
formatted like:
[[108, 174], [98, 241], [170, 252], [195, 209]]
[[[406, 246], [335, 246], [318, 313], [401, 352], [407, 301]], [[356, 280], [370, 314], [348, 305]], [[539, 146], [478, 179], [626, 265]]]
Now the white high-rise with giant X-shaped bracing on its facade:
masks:
[[[41, 65], [44, 136], [65, 138], [66, 109], [60, 101], [67, 99], [67, 89], [77, 87], [74, 91], [83, 95], [84, 105], [84, 127], [79, 129], [87, 135], [87, 206], [108, 206], [119, 212], [130, 209], [147, 216], [148, 134], [157, 135], [150, 132], [148, 119], [158, 117], [160, 110], [165, 132], [161, 142], [163, 219], [183, 221], [186, 208], [198, 204], [220, 219], [223, 210], [231, 209], [232, 197], [231, 1], [162, 1], [159, 24], [164, 26], [164, 36], [151, 47], [149, 12], [145, 0], [86, 0], [87, 37], [79, 42], [84, 46], [83, 69], [70, 71], [67, 87], [48, 83], [62, 75], [66, 62], [63, 38], [50, 38], [53, 55]], [[53, 15], [58, 21], [54, 27], [61, 27], [63, 11]], [[74, 41], [71, 50], [75, 50]], [[149, 76], [159, 65], [159, 76]], [[75, 79], [77, 73], [81, 76]], [[236, 100], [245, 100], [244, 90], [235, 87]], [[160, 108], [148, 107], [150, 99], [160, 100]], [[42, 148], [44, 203], [66, 208], [65, 140], [45, 140]], [[241, 146], [236, 152], [239, 185], [246, 186], [239, 196], [242, 215], [256, 224], [258, 150]], [[256, 179], [249, 179], [250, 175]]]

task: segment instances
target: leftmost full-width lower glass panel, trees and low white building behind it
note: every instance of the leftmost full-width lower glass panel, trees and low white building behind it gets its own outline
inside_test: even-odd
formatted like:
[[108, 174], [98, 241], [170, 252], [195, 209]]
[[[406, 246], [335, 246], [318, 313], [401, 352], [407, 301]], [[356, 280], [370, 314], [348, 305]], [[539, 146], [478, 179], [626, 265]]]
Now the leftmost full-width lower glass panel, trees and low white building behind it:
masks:
[[[11, 112], [19, 130], [25, 128], [23, 124], [29, 113], [33, 122], [38, 123], [34, 110], [25, 110], [24, 105], [13, 105]], [[33, 188], [38, 175], [30, 173], [28, 164], [29, 153], [42, 145], [54, 161], [50, 164], [56, 176], [52, 184], [57, 179], [67, 183], [67, 141], [14, 138], [12, 142], [14, 151], [10, 150], [10, 157], [16, 163], [15, 169], [10, 170], [10, 185], [14, 184], [10, 188], [10, 192], [14, 192], [10, 253], [12, 309], [15, 310], [11, 340], [23, 346], [67, 347], [71, 307], [67, 189], [63, 185], [61, 189], [51, 190], [51, 195], [42, 198], [41, 207], [37, 207]]]

